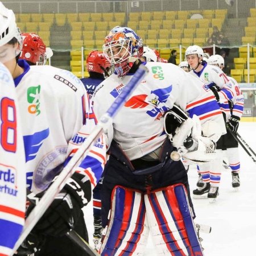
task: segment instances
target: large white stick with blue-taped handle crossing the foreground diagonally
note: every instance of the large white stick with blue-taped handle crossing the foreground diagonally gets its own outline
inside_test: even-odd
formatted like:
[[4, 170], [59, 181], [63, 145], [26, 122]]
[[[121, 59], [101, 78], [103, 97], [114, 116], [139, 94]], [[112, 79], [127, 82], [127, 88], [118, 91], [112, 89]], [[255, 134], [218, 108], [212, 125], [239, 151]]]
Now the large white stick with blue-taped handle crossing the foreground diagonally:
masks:
[[139, 82], [142, 81], [143, 77], [146, 75], [147, 72], [148, 69], [144, 65], [139, 66], [131, 80], [123, 89], [122, 93], [120, 93], [119, 96], [115, 98], [112, 106], [110, 106], [108, 111], [104, 115], [102, 115], [92, 133], [86, 138], [85, 142], [81, 144], [79, 150], [77, 150], [76, 154], [73, 155], [72, 159], [69, 161], [67, 166], [65, 166], [63, 171], [60, 172], [59, 176], [53, 182], [51, 187], [47, 189], [46, 193], [43, 195], [38, 205], [36, 205], [36, 207], [27, 217], [22, 234], [20, 235], [18, 241], [14, 246], [13, 254], [31, 232], [32, 228], [34, 228], [36, 222], [38, 222], [39, 219], [43, 216], [44, 212], [52, 203], [55, 196], [61, 191], [65, 183], [67, 183], [69, 177], [72, 176], [73, 167], [76, 166], [77, 163], [79, 163], [82, 156], [85, 157], [89, 153], [90, 147], [92, 147], [97, 139], [100, 138], [103, 130], [112, 123], [114, 116], [118, 113], [118, 110], [123, 106], [123, 104], [125, 104], [125, 101], [135, 89], [135, 86], [137, 86]]

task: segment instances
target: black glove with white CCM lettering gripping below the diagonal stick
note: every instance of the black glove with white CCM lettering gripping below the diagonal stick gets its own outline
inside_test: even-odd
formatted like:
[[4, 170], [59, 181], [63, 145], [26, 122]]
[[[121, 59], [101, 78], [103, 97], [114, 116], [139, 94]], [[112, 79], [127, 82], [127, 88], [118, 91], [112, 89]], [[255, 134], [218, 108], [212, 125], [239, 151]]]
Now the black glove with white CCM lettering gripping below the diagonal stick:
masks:
[[[88, 204], [92, 196], [90, 181], [87, 180], [83, 183], [81, 181], [83, 178], [84, 175], [77, 172], [72, 175], [72, 178], [68, 180], [65, 187], [35, 225], [36, 232], [60, 237], [74, 228], [80, 214], [82, 214], [81, 209]], [[45, 191], [40, 192], [36, 197], [42, 198], [44, 193]], [[30, 205], [27, 214], [34, 207], [34, 205]]]

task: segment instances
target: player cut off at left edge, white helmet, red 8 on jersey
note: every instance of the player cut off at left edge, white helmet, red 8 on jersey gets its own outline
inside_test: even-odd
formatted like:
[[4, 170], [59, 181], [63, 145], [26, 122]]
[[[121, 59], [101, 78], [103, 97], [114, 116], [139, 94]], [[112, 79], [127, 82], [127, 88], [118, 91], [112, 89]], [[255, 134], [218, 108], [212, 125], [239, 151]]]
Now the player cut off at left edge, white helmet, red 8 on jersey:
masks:
[[[0, 255], [9, 256], [22, 232], [26, 212], [25, 155], [15, 86], [9, 70], [22, 36], [13, 11], [0, 2]], [[11, 42], [16, 40], [15, 47]], [[5, 64], [5, 65], [4, 65]]]

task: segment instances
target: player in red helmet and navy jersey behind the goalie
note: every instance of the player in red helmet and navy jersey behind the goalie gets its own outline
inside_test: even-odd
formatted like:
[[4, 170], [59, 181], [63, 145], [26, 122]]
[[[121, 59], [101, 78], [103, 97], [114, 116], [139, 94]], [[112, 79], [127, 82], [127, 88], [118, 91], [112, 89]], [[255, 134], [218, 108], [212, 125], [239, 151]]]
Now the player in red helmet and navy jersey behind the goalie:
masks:
[[106, 60], [103, 52], [92, 51], [86, 59], [86, 68], [89, 77], [81, 79], [89, 97], [92, 98], [97, 86], [109, 76], [110, 63]]

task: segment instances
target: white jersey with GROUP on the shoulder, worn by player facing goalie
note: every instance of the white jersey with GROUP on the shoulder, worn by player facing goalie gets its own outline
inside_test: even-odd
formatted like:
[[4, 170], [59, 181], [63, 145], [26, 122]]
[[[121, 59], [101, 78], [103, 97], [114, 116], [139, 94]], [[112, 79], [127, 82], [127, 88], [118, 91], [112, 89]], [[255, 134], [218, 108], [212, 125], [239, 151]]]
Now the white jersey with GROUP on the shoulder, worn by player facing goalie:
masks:
[[[37, 193], [48, 187], [61, 170], [61, 163], [68, 155], [68, 160], [71, 158], [73, 149], [84, 141], [95, 122], [89, 120], [84, 85], [71, 72], [47, 65], [30, 67], [24, 60], [18, 63], [24, 68], [14, 82], [22, 117], [27, 185]], [[103, 146], [95, 145], [85, 161], [93, 168], [85, 164], [77, 171], [87, 171], [88, 176], [100, 179], [104, 160], [98, 155], [102, 151], [105, 151]]]

